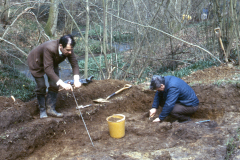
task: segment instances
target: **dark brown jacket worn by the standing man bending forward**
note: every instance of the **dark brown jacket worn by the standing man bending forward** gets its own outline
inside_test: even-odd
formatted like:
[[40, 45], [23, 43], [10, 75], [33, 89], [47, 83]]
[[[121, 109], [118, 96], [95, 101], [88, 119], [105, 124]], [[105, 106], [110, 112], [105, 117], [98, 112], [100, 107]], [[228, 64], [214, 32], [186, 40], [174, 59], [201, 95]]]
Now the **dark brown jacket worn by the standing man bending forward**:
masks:
[[79, 66], [74, 53], [69, 56], [59, 56], [59, 40], [47, 41], [34, 48], [28, 55], [27, 62], [29, 70], [34, 77], [42, 77], [45, 73], [53, 81], [57, 82], [59, 77], [54, 72], [58, 64], [68, 58], [74, 75], [79, 75]]

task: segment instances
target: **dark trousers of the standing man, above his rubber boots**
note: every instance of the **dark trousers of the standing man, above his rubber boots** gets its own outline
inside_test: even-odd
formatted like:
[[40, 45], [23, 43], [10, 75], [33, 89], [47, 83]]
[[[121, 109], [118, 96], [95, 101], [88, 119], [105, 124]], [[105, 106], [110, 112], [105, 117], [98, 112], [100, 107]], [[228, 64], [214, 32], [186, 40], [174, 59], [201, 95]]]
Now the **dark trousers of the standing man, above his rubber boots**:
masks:
[[[59, 76], [58, 66], [54, 67], [54, 72]], [[35, 79], [35, 81], [37, 83], [37, 86], [36, 86], [36, 89], [35, 89], [35, 93], [37, 95], [39, 95], [39, 94], [46, 95], [46, 88], [47, 88], [47, 86], [45, 84], [44, 76], [42, 76], [42, 77], [34, 77], [34, 79]], [[52, 92], [58, 93], [59, 86], [57, 86], [56, 82], [52, 81], [48, 77], [48, 83], [49, 83], [48, 91], [52, 91]]]

